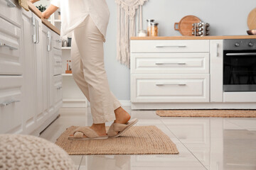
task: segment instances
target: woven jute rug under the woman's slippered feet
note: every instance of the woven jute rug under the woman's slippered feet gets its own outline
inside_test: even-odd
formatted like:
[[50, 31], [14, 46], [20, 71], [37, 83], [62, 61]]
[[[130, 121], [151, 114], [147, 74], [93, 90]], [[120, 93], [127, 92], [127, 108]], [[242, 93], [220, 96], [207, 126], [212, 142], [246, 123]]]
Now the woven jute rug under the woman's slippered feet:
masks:
[[174, 142], [156, 126], [134, 126], [107, 140], [68, 140], [75, 128], [65, 130], [55, 142], [68, 154], [178, 154]]

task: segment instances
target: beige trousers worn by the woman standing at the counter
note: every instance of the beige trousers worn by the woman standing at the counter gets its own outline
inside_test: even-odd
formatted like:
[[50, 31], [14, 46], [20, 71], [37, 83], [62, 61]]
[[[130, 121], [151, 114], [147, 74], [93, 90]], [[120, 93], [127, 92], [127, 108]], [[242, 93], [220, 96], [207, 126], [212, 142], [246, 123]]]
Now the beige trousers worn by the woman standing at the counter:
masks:
[[115, 120], [114, 110], [121, 103], [110, 91], [104, 64], [104, 36], [90, 16], [75, 28], [71, 60], [73, 79], [90, 101], [93, 123]]

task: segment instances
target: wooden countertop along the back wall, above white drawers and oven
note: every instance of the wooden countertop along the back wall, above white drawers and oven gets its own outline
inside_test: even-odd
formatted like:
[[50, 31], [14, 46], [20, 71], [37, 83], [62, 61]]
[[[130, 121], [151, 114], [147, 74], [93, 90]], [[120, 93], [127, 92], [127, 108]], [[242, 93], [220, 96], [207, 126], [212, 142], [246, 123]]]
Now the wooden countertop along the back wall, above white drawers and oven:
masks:
[[226, 36], [173, 36], [173, 37], [132, 37], [131, 40], [225, 40], [225, 39], [256, 39], [256, 35]]

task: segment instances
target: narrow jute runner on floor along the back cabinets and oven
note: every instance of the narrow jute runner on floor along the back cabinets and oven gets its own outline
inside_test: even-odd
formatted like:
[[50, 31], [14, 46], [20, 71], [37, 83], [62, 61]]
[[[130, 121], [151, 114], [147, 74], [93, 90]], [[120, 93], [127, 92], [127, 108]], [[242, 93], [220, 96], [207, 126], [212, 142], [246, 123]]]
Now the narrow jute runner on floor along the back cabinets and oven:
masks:
[[256, 118], [256, 110], [159, 110], [161, 117]]

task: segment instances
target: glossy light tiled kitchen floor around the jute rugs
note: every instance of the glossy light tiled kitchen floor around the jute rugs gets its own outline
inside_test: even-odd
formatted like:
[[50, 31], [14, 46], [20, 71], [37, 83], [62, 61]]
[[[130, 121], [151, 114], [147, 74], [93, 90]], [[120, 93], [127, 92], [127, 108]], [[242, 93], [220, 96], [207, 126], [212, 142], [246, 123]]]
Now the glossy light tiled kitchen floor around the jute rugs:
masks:
[[[256, 169], [256, 118], [160, 118], [155, 111], [124, 108], [139, 118], [137, 125], [156, 125], [166, 133], [180, 154], [71, 156], [77, 169]], [[55, 142], [69, 126], [91, 123], [90, 108], [61, 108], [41, 137]]]

